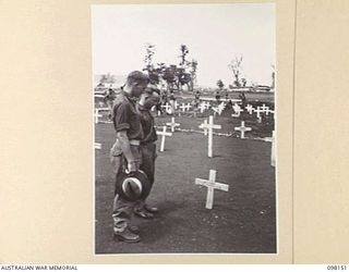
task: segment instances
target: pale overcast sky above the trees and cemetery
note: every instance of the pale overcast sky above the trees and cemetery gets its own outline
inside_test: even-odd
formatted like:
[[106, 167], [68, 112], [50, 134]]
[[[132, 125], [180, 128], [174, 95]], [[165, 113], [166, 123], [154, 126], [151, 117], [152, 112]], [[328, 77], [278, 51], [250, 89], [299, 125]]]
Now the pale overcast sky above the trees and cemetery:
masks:
[[142, 70], [146, 44], [156, 47], [155, 63], [178, 64], [186, 45], [188, 60], [198, 62], [198, 85], [231, 84], [228, 64], [240, 54], [249, 84], [272, 82], [274, 3], [99, 4], [92, 7], [92, 27], [94, 74]]

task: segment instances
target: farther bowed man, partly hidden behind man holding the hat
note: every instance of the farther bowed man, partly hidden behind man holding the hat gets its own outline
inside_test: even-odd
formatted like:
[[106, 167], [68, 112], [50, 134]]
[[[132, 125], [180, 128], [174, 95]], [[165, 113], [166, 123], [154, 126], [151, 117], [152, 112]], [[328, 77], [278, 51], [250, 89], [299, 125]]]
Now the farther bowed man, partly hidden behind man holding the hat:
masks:
[[[144, 138], [141, 140], [142, 163], [140, 168], [146, 174], [151, 186], [154, 184], [157, 140], [151, 109], [157, 104], [159, 100], [159, 90], [156, 86], [149, 86], [145, 92], [142, 94], [140, 102], [136, 106], [144, 132]], [[144, 219], [152, 219], [154, 217], [153, 213], [157, 211], [157, 208], [146, 205], [145, 199], [141, 199], [134, 209], [134, 213]]]

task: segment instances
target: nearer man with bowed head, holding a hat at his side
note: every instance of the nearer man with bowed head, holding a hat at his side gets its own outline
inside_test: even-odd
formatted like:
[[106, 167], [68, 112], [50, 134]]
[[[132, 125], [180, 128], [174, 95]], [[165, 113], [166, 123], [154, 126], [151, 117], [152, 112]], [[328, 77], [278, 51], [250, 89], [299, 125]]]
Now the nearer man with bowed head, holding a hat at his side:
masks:
[[[144, 137], [141, 118], [136, 111], [135, 102], [148, 84], [148, 76], [134, 71], [128, 75], [123, 91], [117, 97], [112, 109], [112, 121], [117, 133], [117, 140], [110, 150], [111, 162], [116, 178], [121, 178], [122, 171], [140, 170], [142, 163], [140, 144]], [[140, 236], [132, 232], [129, 224], [135, 201], [128, 200], [115, 193], [113, 199], [113, 235], [115, 239], [127, 243], [136, 243]]]

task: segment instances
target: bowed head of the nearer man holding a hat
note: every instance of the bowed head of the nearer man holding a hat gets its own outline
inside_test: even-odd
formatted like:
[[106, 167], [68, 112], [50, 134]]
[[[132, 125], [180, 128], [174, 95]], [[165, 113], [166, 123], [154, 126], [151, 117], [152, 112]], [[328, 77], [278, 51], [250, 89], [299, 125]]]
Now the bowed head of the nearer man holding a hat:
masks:
[[133, 97], [140, 97], [148, 83], [149, 77], [146, 74], [140, 71], [133, 71], [128, 75], [123, 90]]

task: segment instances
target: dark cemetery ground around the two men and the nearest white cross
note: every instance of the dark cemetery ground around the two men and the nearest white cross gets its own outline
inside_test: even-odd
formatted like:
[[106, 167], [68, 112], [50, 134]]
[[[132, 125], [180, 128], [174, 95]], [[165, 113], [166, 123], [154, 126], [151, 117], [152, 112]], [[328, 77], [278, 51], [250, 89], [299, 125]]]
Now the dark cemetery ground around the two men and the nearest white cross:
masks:
[[[156, 122], [165, 124], [170, 122], [170, 116]], [[182, 128], [201, 131], [197, 126], [203, 119], [181, 116], [176, 118], [176, 122]], [[214, 122], [226, 129], [216, 132], [233, 132], [232, 123], [224, 118]], [[240, 124], [239, 120], [231, 122], [234, 126]], [[249, 126], [249, 122], [245, 125]], [[166, 138], [165, 152], [158, 153], [156, 182], [147, 200], [160, 211], [153, 220], [134, 218], [142, 240], [125, 244], [112, 240], [115, 178], [109, 149], [115, 140], [113, 127], [112, 124], [95, 127], [95, 141], [103, 146], [95, 151], [96, 254], [276, 252], [276, 190], [270, 143], [214, 136], [214, 158], [209, 159], [207, 137], [174, 132]], [[207, 188], [195, 185], [194, 181], [195, 177], [208, 180], [210, 169], [217, 171], [216, 182], [229, 185], [229, 191], [215, 190], [214, 207], [207, 210]]]

